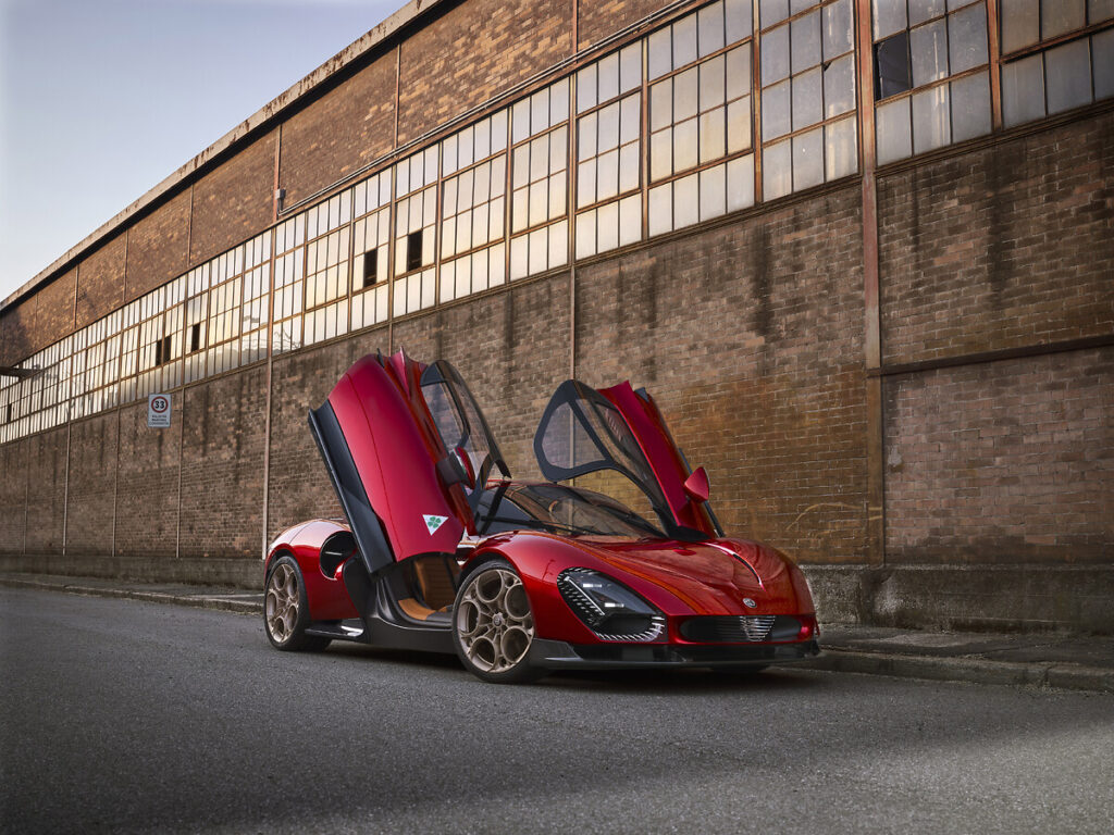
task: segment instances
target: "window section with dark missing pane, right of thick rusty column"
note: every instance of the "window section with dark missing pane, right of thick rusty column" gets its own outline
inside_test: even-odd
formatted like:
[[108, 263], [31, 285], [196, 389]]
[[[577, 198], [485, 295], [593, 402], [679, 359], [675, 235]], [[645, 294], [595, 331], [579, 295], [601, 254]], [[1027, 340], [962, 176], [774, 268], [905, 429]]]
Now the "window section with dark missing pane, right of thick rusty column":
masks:
[[878, 161], [990, 132], [985, 0], [873, 0]]

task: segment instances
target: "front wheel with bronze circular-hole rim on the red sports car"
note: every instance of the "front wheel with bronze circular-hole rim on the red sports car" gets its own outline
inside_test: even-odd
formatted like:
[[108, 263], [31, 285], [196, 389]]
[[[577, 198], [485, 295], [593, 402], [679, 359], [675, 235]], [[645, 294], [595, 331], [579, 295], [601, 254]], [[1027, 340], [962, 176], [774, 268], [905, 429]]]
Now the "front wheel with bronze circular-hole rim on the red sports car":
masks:
[[452, 648], [465, 669], [491, 684], [536, 681], [547, 670], [532, 667], [534, 612], [522, 580], [502, 559], [469, 571], [452, 605]]

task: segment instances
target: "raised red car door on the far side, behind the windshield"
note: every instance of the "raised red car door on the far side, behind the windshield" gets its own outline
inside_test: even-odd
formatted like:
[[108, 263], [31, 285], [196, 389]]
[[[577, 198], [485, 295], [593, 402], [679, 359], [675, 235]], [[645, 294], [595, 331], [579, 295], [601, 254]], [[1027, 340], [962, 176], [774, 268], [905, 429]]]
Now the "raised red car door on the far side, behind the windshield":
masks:
[[627, 477], [672, 537], [704, 539], [719, 532], [706, 501], [685, 490], [688, 465], [654, 399], [628, 382], [598, 391], [577, 380], [561, 383], [541, 416], [534, 453], [550, 481], [598, 470]]

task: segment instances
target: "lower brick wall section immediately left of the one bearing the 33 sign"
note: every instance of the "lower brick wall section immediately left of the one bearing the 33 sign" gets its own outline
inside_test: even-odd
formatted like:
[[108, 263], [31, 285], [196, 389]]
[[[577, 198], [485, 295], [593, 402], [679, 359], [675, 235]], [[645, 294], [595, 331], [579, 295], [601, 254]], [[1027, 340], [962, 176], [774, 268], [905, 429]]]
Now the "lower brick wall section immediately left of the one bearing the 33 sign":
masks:
[[74, 423], [66, 510], [67, 554], [81, 558], [113, 552], [116, 452], [116, 412]]

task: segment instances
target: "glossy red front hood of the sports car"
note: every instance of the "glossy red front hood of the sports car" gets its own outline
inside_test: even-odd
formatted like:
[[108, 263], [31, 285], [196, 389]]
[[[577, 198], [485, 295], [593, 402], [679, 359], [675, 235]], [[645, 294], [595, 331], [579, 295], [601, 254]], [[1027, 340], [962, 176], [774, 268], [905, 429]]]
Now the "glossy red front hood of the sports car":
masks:
[[800, 569], [781, 552], [758, 542], [578, 538], [576, 546], [670, 615], [813, 611]]

